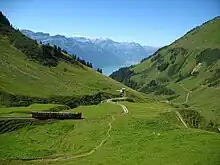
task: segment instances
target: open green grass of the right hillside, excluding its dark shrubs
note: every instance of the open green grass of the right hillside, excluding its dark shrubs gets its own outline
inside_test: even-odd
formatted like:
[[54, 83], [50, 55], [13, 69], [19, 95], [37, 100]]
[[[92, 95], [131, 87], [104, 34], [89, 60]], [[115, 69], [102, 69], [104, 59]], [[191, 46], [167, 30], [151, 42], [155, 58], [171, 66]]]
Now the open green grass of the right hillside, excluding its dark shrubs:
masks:
[[[141, 84], [147, 84], [151, 80], [168, 80], [169, 82], [165, 85], [175, 90], [177, 95], [180, 95], [178, 98], [172, 100], [174, 103], [185, 102], [187, 91], [180, 86], [180, 84], [183, 84], [184, 87], [193, 90], [187, 104], [197, 111], [202, 112], [207, 119], [215, 121], [218, 120], [218, 123], [220, 124], [220, 84], [217, 88], [209, 88], [207, 85], [205, 85], [205, 87], [203, 86], [205, 81], [214, 75], [213, 71], [220, 68], [220, 60], [215, 60], [211, 65], [208, 65], [206, 62], [201, 62], [201, 68], [199, 69], [199, 74], [197, 76], [190, 76], [178, 83], [175, 82], [178, 79], [179, 74], [186, 76], [193, 70], [193, 68], [197, 65], [196, 56], [203, 50], [206, 48], [220, 49], [219, 27], [220, 17], [216, 17], [215, 19], [191, 30], [185, 36], [176, 40], [168, 47], [161, 49], [157, 53], [161, 54], [161, 58], [164, 62], [171, 63], [170, 57], [172, 54], [169, 50], [184, 48], [186, 50], [185, 53], [177, 51], [177, 54], [175, 55], [176, 61], [174, 64], [170, 64], [164, 71], [159, 71], [157, 70], [157, 66], [162, 62], [152, 62], [151, 60], [154, 56], [150, 57], [148, 60], [145, 60], [144, 62], [131, 68], [131, 70], [135, 72], [135, 75], [131, 77], [131, 80]], [[175, 70], [173, 65], [177, 65], [180, 68], [177, 69], [176, 72], [172, 73], [172, 71]]]

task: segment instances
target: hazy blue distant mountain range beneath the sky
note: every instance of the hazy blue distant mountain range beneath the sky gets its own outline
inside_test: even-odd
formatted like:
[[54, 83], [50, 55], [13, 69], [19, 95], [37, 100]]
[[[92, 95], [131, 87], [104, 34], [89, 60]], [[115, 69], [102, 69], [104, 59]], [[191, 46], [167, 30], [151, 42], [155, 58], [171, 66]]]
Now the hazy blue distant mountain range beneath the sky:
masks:
[[51, 36], [49, 33], [21, 30], [31, 39], [60, 46], [70, 54], [75, 54], [93, 66], [105, 68], [110, 66], [128, 66], [138, 63], [153, 54], [158, 48], [142, 46], [134, 42], [116, 42], [111, 39], [90, 39], [85, 37]]

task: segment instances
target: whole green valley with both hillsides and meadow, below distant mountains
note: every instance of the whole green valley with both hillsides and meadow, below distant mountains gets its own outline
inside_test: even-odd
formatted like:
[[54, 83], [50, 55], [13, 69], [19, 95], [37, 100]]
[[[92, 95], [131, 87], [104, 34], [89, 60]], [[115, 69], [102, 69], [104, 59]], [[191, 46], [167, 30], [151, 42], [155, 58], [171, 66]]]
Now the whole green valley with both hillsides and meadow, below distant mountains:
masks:
[[0, 165], [220, 164], [219, 20], [107, 77], [0, 12]]

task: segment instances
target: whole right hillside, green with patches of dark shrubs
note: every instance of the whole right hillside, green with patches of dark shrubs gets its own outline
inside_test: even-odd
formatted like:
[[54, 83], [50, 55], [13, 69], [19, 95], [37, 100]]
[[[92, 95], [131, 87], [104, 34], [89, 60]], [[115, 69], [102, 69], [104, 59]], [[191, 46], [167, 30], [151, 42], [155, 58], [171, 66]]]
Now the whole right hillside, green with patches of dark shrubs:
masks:
[[219, 27], [220, 17], [216, 17], [110, 77], [127, 85], [130, 82], [134, 89], [161, 96], [175, 106], [184, 104], [220, 124]]

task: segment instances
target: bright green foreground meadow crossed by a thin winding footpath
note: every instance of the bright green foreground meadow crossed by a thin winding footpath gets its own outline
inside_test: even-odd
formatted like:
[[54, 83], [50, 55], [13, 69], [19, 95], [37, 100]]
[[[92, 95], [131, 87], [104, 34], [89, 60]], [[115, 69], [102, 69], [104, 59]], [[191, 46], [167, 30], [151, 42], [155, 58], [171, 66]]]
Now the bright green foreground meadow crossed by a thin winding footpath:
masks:
[[[74, 160], [8, 161], [2, 164], [218, 164], [219, 135], [185, 129], [173, 108], [162, 103], [125, 103], [129, 114], [121, 116], [117, 105], [78, 107], [85, 120], [51, 121], [29, 125], [0, 135], [1, 159], [69, 156], [86, 153], [106, 136], [111, 115], [111, 137], [92, 155]], [[18, 136], [19, 135], [19, 136]], [[19, 151], [19, 152], [18, 152]]]

